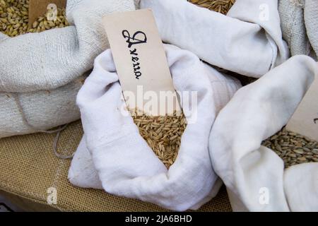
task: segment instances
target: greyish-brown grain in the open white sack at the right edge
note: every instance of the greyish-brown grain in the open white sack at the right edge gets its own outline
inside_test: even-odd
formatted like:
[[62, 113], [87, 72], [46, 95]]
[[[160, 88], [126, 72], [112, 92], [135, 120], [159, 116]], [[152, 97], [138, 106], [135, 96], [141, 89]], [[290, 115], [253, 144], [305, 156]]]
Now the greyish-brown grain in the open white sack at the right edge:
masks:
[[285, 168], [305, 162], [318, 162], [318, 143], [285, 127], [262, 143], [284, 161]]

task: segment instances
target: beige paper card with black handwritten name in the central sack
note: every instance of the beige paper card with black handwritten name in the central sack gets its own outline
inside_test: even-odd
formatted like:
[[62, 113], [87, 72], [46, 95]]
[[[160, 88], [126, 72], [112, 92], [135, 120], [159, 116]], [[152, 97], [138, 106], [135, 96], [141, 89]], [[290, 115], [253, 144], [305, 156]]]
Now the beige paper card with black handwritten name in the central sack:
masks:
[[113, 13], [103, 17], [102, 23], [129, 109], [151, 115], [180, 111], [152, 11]]

